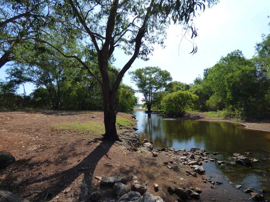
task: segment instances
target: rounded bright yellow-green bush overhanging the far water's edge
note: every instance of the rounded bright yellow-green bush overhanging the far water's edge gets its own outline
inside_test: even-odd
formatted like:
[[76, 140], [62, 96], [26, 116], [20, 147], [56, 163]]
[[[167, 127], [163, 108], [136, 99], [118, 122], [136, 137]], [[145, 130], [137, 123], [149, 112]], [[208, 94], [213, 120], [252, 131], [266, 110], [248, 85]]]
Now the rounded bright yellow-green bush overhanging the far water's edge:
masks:
[[188, 91], [178, 90], [167, 94], [162, 100], [163, 112], [183, 116], [188, 107], [193, 107], [199, 97]]

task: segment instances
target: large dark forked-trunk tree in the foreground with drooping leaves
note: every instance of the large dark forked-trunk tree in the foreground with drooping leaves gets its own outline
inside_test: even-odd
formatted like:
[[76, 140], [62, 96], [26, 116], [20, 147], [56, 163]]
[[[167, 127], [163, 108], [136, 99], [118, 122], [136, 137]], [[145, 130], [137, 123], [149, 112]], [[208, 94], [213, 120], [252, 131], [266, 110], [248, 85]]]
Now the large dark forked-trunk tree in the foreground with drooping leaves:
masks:
[[[207, 0], [212, 6], [218, 0]], [[169, 24], [180, 24], [191, 38], [197, 36], [192, 19], [205, 9], [206, 0], [55, 0], [44, 7], [51, 13], [50, 19], [55, 19], [54, 26], [43, 29], [40, 38], [32, 37], [58, 50], [64, 57], [78, 60], [81, 68], [98, 80], [103, 91], [105, 136], [108, 139], [118, 139], [116, 131], [116, 94], [124, 74], [136, 58], [148, 60], [153, 52], [153, 45], [163, 46], [166, 29]], [[49, 23], [50, 24], [50, 23]], [[51, 30], [54, 30], [53, 32]], [[55, 35], [62, 37], [61, 43], [65, 49], [69, 47], [65, 42], [71, 40], [83, 41], [86, 49], [81, 57], [67, 55], [54, 46]], [[31, 38], [31, 37], [30, 37]], [[58, 39], [59, 37], [57, 37]], [[130, 59], [112, 81], [108, 74], [108, 62], [112, 58], [115, 48], [122, 49]], [[195, 53], [197, 47], [193, 48]], [[99, 74], [91, 69], [85, 61], [97, 58]]]

